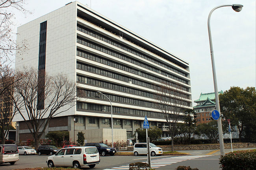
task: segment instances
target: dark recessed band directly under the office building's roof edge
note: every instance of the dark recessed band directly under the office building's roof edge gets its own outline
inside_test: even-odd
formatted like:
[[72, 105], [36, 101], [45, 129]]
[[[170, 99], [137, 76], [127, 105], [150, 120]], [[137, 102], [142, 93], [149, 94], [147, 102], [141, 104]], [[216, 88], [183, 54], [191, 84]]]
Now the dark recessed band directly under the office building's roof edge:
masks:
[[[84, 8], [83, 6], [81, 6], [81, 5], [78, 5], [78, 6], [82, 7], [83, 9], [85, 9], [85, 8]], [[87, 10], [87, 9], [85, 9], [85, 10]], [[85, 15], [82, 15], [81, 12], [82, 12], [82, 11], [80, 11], [80, 10], [78, 9], [77, 16], [78, 16], [79, 18], [82, 18], [83, 20], [86, 20], [86, 21], [90, 22], [91, 24], [94, 24], [95, 26], [101, 27], [101, 28], [105, 29], [106, 31], [109, 31], [110, 33], [113, 33], [113, 34], [115, 34], [115, 35], [121, 37], [121, 32], [120, 32], [119, 30], [116, 31], [116, 30], [113, 30], [113, 29], [109, 29], [109, 27], [104, 27], [102, 24], [99, 24], [98, 22], [95, 22], [95, 20], [92, 21], [92, 20], [90, 20], [89, 18], [85, 17], [85, 15], [87, 15], [87, 14], [85, 14], [85, 13], [82, 12], [83, 14], [85, 14]], [[115, 24], [114, 24], [114, 25], [115, 25]], [[122, 35], [122, 38], [123, 38], [124, 40], [127, 40], [127, 41], [129, 41], [129, 42], [131, 42], [131, 43], [133, 43], [133, 44], [135, 44], [135, 45], [141, 47], [141, 48], [146, 49], [147, 51], [150, 51], [151, 53], [154, 53], [154, 54], [158, 55], [159, 57], [165, 58], [166, 60], [168, 60], [168, 61], [170, 61], [170, 62], [173, 62], [174, 64], [177, 64], [178, 66], [181, 66], [182, 68], [187, 68], [187, 66], [184, 66], [184, 65], [180, 64], [180, 62], [176, 61], [175, 59], [173, 59], [173, 58], [171, 58], [171, 57], [169, 57], [169, 56], [167, 56], [167, 57], [162, 56], [160, 51], [155, 51], [155, 50], [154, 50], [154, 51], [151, 51], [150, 49], [148, 49], [148, 48], [144, 45], [144, 43], [143, 43], [143, 44], [141, 44], [141, 43], [136, 43], [136, 42], [134, 42], [133, 40], [130, 40], [130, 38], [129, 38], [128, 36], [125, 36], [125, 35]], [[153, 46], [154, 46], [154, 45], [153, 45]], [[156, 47], [156, 46], [155, 46], [155, 47]], [[175, 56], [174, 56], [174, 57], [175, 57]], [[177, 57], [175, 57], [175, 58], [177, 58]], [[178, 58], [178, 59], [179, 59], [179, 58]]]

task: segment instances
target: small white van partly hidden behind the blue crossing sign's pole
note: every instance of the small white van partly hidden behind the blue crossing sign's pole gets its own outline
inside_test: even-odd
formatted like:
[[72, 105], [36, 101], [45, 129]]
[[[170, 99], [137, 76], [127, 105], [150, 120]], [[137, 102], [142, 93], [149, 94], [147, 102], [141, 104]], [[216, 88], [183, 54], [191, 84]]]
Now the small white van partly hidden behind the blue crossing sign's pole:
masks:
[[[149, 143], [149, 150], [150, 150], [150, 155], [155, 156], [155, 155], [161, 155], [163, 154], [162, 148], [157, 147], [156, 145]], [[137, 156], [139, 154], [147, 154], [147, 143], [135, 143], [134, 144], [134, 155]]]

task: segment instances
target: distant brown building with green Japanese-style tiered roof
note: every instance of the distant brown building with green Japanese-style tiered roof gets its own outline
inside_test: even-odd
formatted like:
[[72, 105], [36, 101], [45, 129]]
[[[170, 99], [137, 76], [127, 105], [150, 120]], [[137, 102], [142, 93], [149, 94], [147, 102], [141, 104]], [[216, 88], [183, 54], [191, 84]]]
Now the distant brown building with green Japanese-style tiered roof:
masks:
[[[219, 94], [223, 91], [219, 91]], [[197, 113], [197, 124], [211, 121], [211, 111], [215, 109], [215, 93], [201, 93], [198, 100], [194, 101], [197, 106], [193, 109]]]

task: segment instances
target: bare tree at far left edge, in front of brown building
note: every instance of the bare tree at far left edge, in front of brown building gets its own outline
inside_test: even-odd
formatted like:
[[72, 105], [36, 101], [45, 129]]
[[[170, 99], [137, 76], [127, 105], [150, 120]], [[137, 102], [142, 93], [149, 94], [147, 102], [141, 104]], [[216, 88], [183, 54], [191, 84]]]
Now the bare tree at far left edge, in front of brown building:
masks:
[[[20, 77], [14, 80], [14, 71], [7, 65], [0, 66], [0, 139], [2, 144], [5, 143], [7, 134], [9, 133], [9, 127], [13, 120], [13, 116], [17, 113], [16, 109], [13, 109], [12, 96], [13, 85], [15, 81], [19, 81]], [[17, 107], [20, 103], [17, 103]]]

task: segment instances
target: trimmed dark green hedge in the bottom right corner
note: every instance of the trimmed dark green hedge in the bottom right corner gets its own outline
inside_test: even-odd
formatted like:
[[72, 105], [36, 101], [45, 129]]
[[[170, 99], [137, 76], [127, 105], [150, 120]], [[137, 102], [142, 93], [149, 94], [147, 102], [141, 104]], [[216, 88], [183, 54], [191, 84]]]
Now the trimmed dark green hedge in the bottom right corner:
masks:
[[230, 153], [219, 159], [222, 170], [255, 170], [256, 150], [246, 153]]

